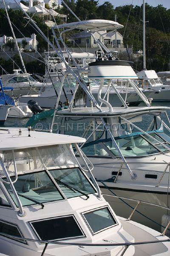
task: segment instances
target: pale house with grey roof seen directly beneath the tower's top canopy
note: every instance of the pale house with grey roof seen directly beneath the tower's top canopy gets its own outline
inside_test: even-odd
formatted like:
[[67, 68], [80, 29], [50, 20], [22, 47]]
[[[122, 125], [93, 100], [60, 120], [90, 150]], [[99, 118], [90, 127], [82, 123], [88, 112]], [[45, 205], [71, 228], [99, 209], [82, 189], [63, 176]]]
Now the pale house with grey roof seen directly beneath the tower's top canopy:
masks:
[[[113, 48], [116, 46], [116, 39], [117, 47], [123, 47], [123, 36], [119, 32], [116, 33], [116, 39], [115, 32], [106, 32], [106, 30], [97, 31], [93, 34], [97, 40], [101, 38], [102, 42], [109, 48]], [[73, 41], [74, 47], [97, 47], [96, 42], [94, 41], [94, 38], [92, 37], [91, 33], [87, 32], [86, 30], [74, 34], [71, 39]]]

